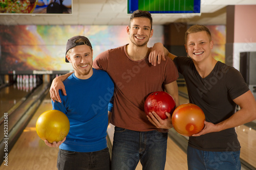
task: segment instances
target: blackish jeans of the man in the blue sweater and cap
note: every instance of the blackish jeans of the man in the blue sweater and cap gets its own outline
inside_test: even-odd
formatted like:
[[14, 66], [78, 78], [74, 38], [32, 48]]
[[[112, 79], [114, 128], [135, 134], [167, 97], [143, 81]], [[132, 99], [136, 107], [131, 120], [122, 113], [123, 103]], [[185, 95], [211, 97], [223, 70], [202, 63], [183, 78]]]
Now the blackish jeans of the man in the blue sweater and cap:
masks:
[[109, 148], [96, 152], [73, 152], [59, 149], [58, 170], [110, 170]]

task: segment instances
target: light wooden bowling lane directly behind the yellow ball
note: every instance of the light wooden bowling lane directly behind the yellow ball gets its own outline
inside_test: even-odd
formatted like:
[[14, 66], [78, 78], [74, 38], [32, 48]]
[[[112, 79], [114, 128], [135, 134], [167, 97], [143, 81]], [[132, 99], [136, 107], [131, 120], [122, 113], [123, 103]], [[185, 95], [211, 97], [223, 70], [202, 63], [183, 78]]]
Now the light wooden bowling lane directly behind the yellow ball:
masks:
[[0, 169], [57, 169], [58, 148], [49, 148], [36, 133], [36, 120], [42, 112], [52, 109], [50, 94], [42, 101], [22, 135], [8, 152], [8, 166], [3, 162]]

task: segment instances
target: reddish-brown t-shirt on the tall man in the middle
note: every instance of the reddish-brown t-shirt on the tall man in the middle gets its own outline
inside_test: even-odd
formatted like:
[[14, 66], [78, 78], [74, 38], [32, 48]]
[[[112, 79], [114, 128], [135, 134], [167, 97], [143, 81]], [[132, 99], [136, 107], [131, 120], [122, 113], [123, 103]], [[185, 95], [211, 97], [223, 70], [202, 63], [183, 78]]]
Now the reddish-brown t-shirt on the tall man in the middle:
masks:
[[178, 71], [172, 60], [153, 66], [148, 56], [134, 61], [127, 55], [125, 46], [99, 54], [93, 62], [96, 69], [103, 69], [115, 83], [111, 124], [134, 131], [157, 129], [144, 113], [148, 94], [163, 91], [163, 85], [177, 80]]

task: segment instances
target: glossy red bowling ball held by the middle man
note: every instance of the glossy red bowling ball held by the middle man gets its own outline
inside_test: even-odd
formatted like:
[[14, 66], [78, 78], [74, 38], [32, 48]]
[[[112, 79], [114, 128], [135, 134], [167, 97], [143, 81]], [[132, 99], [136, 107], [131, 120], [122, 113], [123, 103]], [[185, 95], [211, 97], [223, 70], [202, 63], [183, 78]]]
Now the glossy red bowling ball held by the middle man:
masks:
[[172, 95], [164, 91], [156, 91], [147, 96], [144, 103], [144, 111], [148, 115], [149, 112], [155, 111], [161, 119], [167, 118], [165, 112], [172, 114], [176, 108], [176, 104]]

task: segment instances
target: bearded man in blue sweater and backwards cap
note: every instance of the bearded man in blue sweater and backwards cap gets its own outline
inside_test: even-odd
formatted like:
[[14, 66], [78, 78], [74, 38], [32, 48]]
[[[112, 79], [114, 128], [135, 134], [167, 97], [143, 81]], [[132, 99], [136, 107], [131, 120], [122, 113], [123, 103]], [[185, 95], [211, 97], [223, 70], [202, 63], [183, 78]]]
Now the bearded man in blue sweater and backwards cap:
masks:
[[52, 106], [68, 116], [70, 131], [62, 141], [45, 143], [59, 147], [58, 169], [110, 169], [106, 129], [114, 84], [105, 71], [92, 68], [93, 50], [87, 37], [68, 40], [66, 62], [75, 70], [63, 82], [68, 95], [59, 91], [61, 103], [52, 102]]

